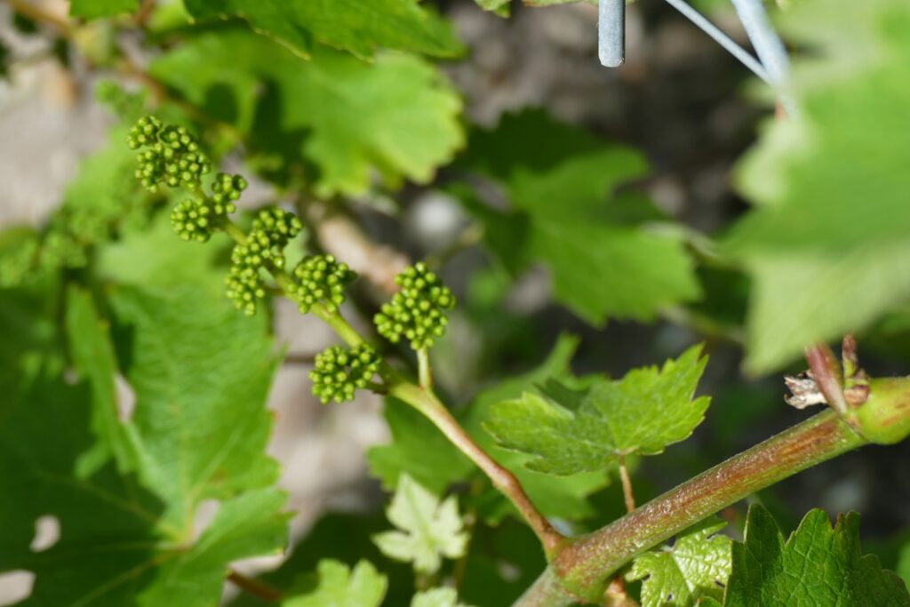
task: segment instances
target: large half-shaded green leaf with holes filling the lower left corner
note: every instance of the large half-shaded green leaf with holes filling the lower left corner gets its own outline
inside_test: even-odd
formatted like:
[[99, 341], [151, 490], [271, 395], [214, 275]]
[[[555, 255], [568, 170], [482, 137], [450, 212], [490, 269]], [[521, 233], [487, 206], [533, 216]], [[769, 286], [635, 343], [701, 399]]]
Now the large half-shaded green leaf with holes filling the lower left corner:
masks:
[[[286, 496], [270, 487], [277, 470], [263, 454], [270, 340], [213, 301], [116, 292], [116, 353], [136, 395], [129, 420], [112, 409], [109, 331], [81, 291], [66, 324], [83, 380], [43, 373], [0, 401], [0, 492], [16, 496], [0, 501], [0, 572], [35, 573], [17, 604], [209, 607], [231, 561], [284, 546]], [[199, 533], [206, 499], [220, 506]], [[47, 515], [60, 537], [32, 550]]]

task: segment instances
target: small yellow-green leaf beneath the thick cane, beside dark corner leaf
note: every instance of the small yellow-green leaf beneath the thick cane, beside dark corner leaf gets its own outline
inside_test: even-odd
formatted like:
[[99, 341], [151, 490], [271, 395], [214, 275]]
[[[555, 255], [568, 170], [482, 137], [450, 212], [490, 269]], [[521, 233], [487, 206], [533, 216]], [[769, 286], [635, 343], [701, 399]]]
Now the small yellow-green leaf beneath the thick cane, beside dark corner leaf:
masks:
[[632, 562], [628, 579], [642, 580], [642, 607], [688, 607], [697, 599], [723, 599], [730, 575], [726, 522], [705, 519], [682, 532], [672, 546], [645, 552]]

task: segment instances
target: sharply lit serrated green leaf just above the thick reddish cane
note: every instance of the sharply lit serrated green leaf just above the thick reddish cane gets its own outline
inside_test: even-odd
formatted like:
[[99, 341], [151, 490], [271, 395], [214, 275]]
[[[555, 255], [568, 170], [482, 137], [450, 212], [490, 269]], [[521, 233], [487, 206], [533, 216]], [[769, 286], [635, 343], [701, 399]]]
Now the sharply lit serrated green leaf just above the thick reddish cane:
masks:
[[704, 419], [710, 399], [693, 399], [707, 364], [701, 352], [693, 346], [662, 369], [600, 379], [583, 399], [525, 392], [494, 405], [484, 427], [502, 447], [531, 456], [531, 470], [548, 474], [604, 470], [618, 456], [661, 453]]

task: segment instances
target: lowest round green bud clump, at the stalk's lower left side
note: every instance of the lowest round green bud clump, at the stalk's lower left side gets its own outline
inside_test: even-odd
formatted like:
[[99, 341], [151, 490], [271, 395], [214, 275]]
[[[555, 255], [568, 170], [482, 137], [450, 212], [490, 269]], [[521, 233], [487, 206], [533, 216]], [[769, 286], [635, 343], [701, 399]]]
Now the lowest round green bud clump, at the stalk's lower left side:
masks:
[[323, 404], [354, 400], [354, 392], [367, 387], [381, 364], [379, 353], [369, 344], [323, 350], [316, 356], [316, 367], [309, 372], [313, 395]]

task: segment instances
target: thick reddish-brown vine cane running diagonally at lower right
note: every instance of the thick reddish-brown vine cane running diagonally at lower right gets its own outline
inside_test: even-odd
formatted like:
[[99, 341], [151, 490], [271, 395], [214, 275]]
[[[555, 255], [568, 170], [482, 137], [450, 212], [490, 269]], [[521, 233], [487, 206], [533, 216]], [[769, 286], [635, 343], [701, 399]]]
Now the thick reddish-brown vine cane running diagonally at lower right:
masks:
[[704, 471], [601, 530], [566, 541], [550, 569], [515, 605], [571, 605], [576, 599], [569, 592], [596, 603], [612, 574], [635, 556], [755, 491], [866, 442], [833, 410], [819, 413]]

